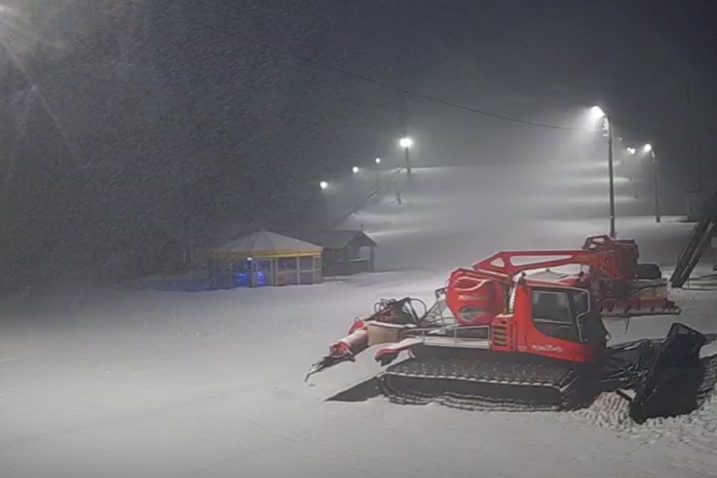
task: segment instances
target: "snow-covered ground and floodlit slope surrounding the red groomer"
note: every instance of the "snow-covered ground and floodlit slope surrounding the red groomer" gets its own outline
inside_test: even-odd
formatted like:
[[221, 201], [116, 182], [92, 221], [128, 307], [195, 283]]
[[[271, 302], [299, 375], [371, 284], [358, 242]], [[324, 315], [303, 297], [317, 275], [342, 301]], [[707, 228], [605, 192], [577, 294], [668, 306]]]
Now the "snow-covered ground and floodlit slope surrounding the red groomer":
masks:
[[[377, 299], [430, 299], [453, 267], [495, 250], [576, 247], [605, 231], [599, 168], [574, 173], [596, 185], [594, 199], [570, 181], [542, 188], [521, 171], [508, 188], [499, 170], [419, 169], [403, 204], [388, 197], [351, 217], [379, 242], [379, 273], [277, 289], [4, 301], [0, 476], [714, 476], [714, 397], [690, 416], [641, 426], [611, 395], [572, 413], [323, 401], [379, 370], [370, 352], [303, 382]], [[618, 213], [635, 207], [619, 197]], [[667, 219], [622, 218], [618, 228], [640, 241], [645, 261], [669, 269], [691, 226]], [[717, 332], [714, 286], [678, 291], [680, 320]], [[669, 324], [646, 317], [609, 328], [622, 341], [663, 336]]]

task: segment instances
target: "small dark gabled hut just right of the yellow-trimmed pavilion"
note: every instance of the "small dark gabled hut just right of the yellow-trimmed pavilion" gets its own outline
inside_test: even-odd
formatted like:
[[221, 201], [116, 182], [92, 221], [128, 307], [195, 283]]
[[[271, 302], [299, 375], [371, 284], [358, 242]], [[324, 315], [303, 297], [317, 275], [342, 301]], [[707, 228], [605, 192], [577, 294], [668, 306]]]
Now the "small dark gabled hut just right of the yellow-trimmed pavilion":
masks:
[[323, 247], [324, 275], [350, 275], [374, 270], [376, 243], [359, 229], [319, 231], [309, 240]]

